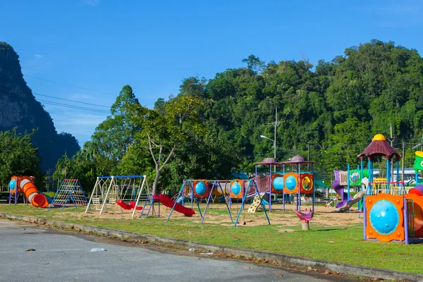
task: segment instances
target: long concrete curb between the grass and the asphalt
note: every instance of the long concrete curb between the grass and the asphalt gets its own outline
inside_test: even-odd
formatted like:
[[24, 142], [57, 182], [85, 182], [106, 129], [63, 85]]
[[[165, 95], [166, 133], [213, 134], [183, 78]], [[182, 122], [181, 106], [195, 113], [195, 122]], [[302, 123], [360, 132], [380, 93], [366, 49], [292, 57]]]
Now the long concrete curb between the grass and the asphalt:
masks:
[[23, 216], [19, 214], [8, 214], [0, 212], [0, 216], [6, 219], [16, 219], [20, 221], [27, 221], [30, 223], [37, 223], [39, 225], [56, 226], [59, 228], [75, 229], [84, 232], [92, 232], [100, 235], [113, 236], [117, 238], [128, 238], [135, 240], [148, 241], [149, 243], [159, 243], [165, 245], [176, 245], [178, 247], [193, 247], [196, 250], [204, 252], [219, 252], [223, 255], [235, 255], [240, 257], [252, 257], [254, 259], [269, 259], [280, 264], [295, 265], [302, 267], [312, 267], [319, 271], [334, 271], [340, 274], [364, 276], [369, 278], [381, 278], [395, 281], [422, 281], [423, 276], [419, 274], [410, 274], [403, 271], [392, 271], [389, 269], [372, 268], [368, 266], [360, 266], [353, 264], [342, 264], [339, 262], [325, 262], [320, 259], [307, 259], [305, 257], [293, 257], [290, 255], [281, 255], [272, 252], [261, 252], [257, 250], [247, 250], [237, 247], [226, 247], [220, 245], [211, 245], [204, 243], [196, 243], [186, 240], [159, 237], [156, 235], [140, 234], [135, 232], [120, 231], [109, 228], [99, 228], [95, 226], [87, 226], [76, 223], [66, 223], [63, 221], [55, 221], [51, 219], [39, 219], [34, 216]]

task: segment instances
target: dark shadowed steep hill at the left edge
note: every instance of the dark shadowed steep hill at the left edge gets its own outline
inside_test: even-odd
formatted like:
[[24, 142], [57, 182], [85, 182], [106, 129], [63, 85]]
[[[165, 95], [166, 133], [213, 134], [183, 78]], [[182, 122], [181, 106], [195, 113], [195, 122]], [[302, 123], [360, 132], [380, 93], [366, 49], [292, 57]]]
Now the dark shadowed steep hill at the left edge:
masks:
[[23, 80], [18, 54], [9, 44], [0, 42], [0, 131], [14, 127], [18, 132], [38, 129], [32, 143], [39, 149], [43, 171], [54, 169], [65, 152], [73, 156], [80, 149], [75, 137], [56, 132], [51, 116]]

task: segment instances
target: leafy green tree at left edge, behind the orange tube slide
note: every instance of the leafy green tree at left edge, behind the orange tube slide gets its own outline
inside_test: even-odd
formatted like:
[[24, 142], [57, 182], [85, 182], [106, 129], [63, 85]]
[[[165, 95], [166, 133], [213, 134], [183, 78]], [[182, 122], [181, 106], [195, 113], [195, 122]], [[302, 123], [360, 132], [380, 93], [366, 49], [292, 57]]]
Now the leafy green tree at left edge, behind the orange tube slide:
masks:
[[37, 186], [44, 187], [44, 178], [38, 165], [38, 149], [31, 142], [32, 133], [0, 132], [0, 190], [6, 190], [11, 176], [35, 176]]

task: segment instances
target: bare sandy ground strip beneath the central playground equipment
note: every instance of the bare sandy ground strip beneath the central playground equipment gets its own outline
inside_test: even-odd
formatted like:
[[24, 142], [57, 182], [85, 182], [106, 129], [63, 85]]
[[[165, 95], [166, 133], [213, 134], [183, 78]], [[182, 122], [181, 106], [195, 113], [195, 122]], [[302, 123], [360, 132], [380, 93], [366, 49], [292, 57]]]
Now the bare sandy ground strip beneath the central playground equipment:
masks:
[[[188, 204], [185, 204], [185, 207], [189, 207]], [[202, 213], [204, 213], [204, 209], [206, 204], [200, 204], [200, 208]], [[247, 212], [249, 205], [245, 206], [240, 213], [240, 218], [238, 222], [243, 223], [245, 222], [245, 226], [259, 226], [267, 224], [266, 216], [262, 210], [259, 210], [255, 213]], [[311, 206], [302, 206], [302, 211], [305, 208], [309, 209]], [[233, 221], [235, 221], [236, 216], [239, 212], [240, 204], [232, 204], [231, 207], [231, 215]], [[269, 219], [271, 224], [274, 225], [281, 225], [281, 226], [298, 226], [300, 224], [300, 219], [295, 215], [293, 212], [295, 206], [292, 204], [286, 204], [285, 212], [282, 211], [282, 204], [272, 204], [271, 212], [268, 211]], [[362, 223], [363, 222], [363, 214], [360, 214], [357, 210], [357, 207], [353, 207], [350, 209], [350, 212], [343, 212], [343, 213], [333, 213], [335, 208], [328, 207], [325, 208], [323, 206], [315, 206], [314, 217], [310, 224], [313, 226], [321, 226], [321, 227], [330, 227], [330, 226], [348, 226], [351, 223]], [[200, 223], [201, 216], [198, 209], [194, 207], [195, 214], [192, 217], [185, 217], [183, 214], [178, 212], [173, 212], [171, 216], [171, 220], [178, 220], [178, 219], [190, 219], [193, 222]], [[92, 210], [87, 212], [87, 214], [81, 213], [73, 213], [71, 212], [71, 208], [66, 208], [66, 216], [75, 216], [77, 218], [81, 218], [82, 216], [87, 219], [88, 217], [95, 217], [100, 219], [130, 219], [132, 216], [133, 210], [123, 210], [121, 207], [118, 207], [116, 204], [109, 205], [106, 211], [103, 211], [102, 214], [99, 214], [99, 210], [92, 207]], [[156, 214], [158, 211], [158, 204], [155, 204], [155, 212]], [[167, 219], [167, 216], [171, 212], [170, 208], [164, 207], [160, 205], [160, 218], [163, 220]], [[140, 211], [135, 212], [135, 218], [140, 216]], [[151, 212], [150, 212], [151, 214]], [[156, 215], [157, 216], [157, 215]], [[145, 216], [143, 216], [145, 217]], [[231, 226], [233, 225], [225, 204], [209, 204], [209, 208], [206, 211], [206, 216], [204, 219], [204, 223], [216, 223], [221, 224], [223, 226]], [[286, 230], [284, 230], [286, 232]]]

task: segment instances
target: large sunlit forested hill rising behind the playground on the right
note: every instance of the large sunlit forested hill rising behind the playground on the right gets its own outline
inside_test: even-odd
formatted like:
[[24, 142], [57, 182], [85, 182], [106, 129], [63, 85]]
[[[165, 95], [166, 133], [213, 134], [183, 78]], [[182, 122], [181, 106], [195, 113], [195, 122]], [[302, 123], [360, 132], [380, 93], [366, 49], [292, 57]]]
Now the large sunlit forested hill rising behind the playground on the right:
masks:
[[[418, 142], [423, 133], [423, 59], [415, 49], [372, 40], [345, 49], [332, 61], [271, 61], [256, 56], [246, 68], [227, 69], [210, 80], [188, 78], [181, 94], [201, 97], [204, 120], [223, 140], [243, 148], [250, 161], [273, 157], [275, 108], [279, 160], [295, 154], [317, 161], [317, 170], [357, 164], [372, 135]], [[157, 107], [164, 101], [159, 100]]]

